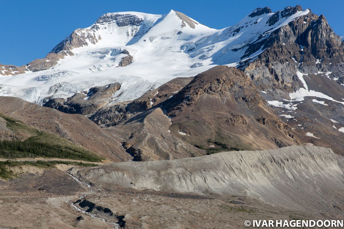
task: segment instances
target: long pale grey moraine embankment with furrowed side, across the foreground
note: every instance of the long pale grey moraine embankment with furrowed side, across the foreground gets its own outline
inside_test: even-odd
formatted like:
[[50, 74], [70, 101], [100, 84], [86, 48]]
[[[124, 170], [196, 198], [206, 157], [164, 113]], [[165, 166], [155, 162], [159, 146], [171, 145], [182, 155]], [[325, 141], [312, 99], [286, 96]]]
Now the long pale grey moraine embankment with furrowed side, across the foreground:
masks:
[[[110, 190], [119, 185], [137, 190], [246, 195], [280, 206], [323, 209], [324, 205], [343, 205], [337, 201], [344, 191], [342, 165], [343, 159], [331, 149], [291, 146], [187, 159], [112, 163], [70, 172]], [[314, 199], [319, 202], [314, 203]]]

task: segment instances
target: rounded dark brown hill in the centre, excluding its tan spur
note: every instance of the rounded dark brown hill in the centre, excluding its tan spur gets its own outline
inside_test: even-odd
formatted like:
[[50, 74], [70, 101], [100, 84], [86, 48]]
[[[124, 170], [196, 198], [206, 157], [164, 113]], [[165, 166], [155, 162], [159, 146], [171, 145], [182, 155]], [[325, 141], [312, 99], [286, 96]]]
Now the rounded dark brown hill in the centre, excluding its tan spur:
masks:
[[[266, 105], [253, 81], [236, 68], [217, 66], [198, 74], [165, 101], [162, 109], [172, 117], [171, 133], [209, 152], [274, 148], [278, 145], [273, 138], [283, 146], [299, 144], [297, 138], [276, 125], [280, 119]], [[257, 122], [258, 115], [264, 117], [265, 125]], [[249, 137], [258, 135], [259, 142]]]

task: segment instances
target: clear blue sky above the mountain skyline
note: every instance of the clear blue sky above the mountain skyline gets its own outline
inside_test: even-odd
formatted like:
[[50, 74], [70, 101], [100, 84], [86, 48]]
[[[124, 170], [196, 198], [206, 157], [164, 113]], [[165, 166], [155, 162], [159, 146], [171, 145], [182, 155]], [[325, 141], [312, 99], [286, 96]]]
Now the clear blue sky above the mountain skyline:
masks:
[[237, 23], [257, 7], [277, 11], [300, 4], [315, 14], [324, 14], [335, 33], [344, 35], [344, 1], [21, 1], [1, 0], [0, 63], [25, 65], [43, 58], [76, 28], [93, 24], [107, 12], [139, 11], [165, 14], [171, 9], [212, 28], [224, 28]]

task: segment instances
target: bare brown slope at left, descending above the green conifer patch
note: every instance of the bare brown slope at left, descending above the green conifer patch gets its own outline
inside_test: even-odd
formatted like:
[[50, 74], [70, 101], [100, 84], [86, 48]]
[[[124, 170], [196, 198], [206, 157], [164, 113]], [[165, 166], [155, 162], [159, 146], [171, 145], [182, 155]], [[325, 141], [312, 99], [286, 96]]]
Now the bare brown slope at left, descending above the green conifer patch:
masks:
[[120, 146], [121, 140], [84, 115], [66, 114], [53, 108], [0, 96], [0, 113], [26, 125], [60, 136], [111, 161], [128, 161], [130, 155]]

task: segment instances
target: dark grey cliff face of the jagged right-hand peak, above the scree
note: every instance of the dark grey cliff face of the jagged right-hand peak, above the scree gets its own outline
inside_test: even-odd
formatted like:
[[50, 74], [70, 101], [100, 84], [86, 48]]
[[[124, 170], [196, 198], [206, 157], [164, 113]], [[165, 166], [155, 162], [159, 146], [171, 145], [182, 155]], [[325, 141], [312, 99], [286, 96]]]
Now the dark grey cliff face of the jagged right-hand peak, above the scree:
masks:
[[[299, 6], [295, 8], [288, 9], [290, 12], [300, 10]], [[287, 12], [285, 14], [288, 15]], [[261, 47], [268, 49], [256, 60], [249, 64], [243, 62], [239, 66], [256, 85], [272, 85], [285, 90], [286, 93], [297, 90], [298, 70], [302, 73], [332, 71], [331, 78], [336, 77], [340, 78], [338, 82], [343, 81], [344, 45], [323, 15], [310, 12], [300, 16], [272, 32], [267, 39], [250, 44], [245, 56]]]

